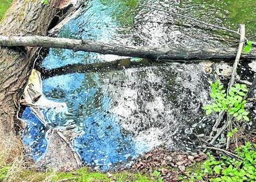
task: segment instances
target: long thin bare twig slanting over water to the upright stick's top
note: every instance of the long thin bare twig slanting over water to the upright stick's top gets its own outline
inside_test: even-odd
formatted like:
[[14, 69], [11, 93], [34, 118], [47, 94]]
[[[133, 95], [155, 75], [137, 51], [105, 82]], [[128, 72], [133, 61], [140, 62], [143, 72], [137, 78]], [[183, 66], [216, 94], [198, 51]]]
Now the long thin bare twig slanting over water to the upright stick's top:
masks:
[[162, 9], [160, 9], [160, 8], [154, 8], [154, 7], [147, 6], [147, 5], [141, 5], [141, 6], [145, 6], [145, 7], [147, 7], [147, 8], [151, 8], [151, 9], [158, 10], [158, 11], [161, 11], [161, 12], [167, 12], [168, 14], [176, 15], [176, 16], [179, 16], [179, 17], [184, 17], [184, 18], [186, 18], [186, 19], [191, 19], [191, 20], [193, 20], [193, 21], [196, 21], [196, 22], [198, 22], [198, 23], [202, 23], [202, 24], [204, 24], [204, 25], [212, 26], [212, 27], [215, 27], [215, 28], [219, 28], [219, 29], [221, 29], [221, 30], [225, 30], [225, 31], [228, 31], [228, 32], [232, 32], [232, 33], [235, 33], [235, 34], [239, 34], [239, 32], [237, 32], [237, 31], [230, 30], [230, 29], [224, 28], [224, 27], [222, 27], [222, 26], [211, 25], [211, 24], [209, 24], [209, 23], [206, 23], [206, 22], [204, 22], [204, 21], [200, 21], [200, 20], [195, 19], [195, 18], [193, 18], [193, 17], [188, 17], [188, 16], [186, 16], [186, 15], [176, 14], [176, 13], [173, 13], [173, 12], [169, 12], [169, 11], [167, 11], [167, 10], [162, 10]]

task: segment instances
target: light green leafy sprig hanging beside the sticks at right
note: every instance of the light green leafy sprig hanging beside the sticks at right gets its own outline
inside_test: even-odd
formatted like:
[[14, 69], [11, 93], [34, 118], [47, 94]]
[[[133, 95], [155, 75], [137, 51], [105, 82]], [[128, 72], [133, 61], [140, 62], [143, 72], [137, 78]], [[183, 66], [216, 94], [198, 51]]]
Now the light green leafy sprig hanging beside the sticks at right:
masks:
[[243, 99], [246, 96], [246, 92], [248, 92], [246, 85], [235, 84], [235, 86], [229, 89], [228, 94], [226, 94], [226, 90], [223, 87], [219, 83], [219, 80], [211, 84], [210, 96], [213, 99], [213, 103], [202, 107], [206, 110], [206, 114], [209, 115], [213, 111], [218, 113], [224, 110], [231, 116], [237, 118], [238, 121], [241, 119], [249, 121], [249, 112], [244, 110], [246, 101]]

